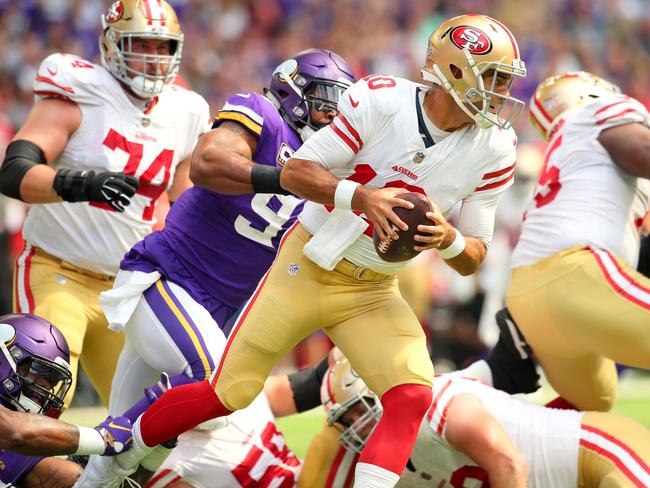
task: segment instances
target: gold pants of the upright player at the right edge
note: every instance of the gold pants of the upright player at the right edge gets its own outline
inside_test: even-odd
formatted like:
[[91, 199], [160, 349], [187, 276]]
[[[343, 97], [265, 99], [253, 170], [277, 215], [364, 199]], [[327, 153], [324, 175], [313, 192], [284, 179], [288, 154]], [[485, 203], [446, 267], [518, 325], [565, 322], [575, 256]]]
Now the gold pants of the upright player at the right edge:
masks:
[[650, 279], [607, 251], [516, 268], [506, 304], [553, 388], [580, 410], [612, 407], [615, 362], [650, 368]]

